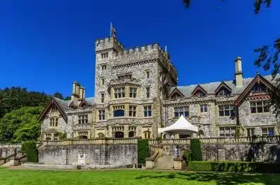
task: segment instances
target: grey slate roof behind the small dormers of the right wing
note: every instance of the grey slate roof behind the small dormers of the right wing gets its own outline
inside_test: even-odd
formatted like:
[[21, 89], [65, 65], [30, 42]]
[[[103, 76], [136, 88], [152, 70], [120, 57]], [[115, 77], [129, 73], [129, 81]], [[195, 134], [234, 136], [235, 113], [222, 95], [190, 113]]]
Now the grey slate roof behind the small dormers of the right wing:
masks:
[[[277, 75], [277, 77], [280, 77], [280, 75]], [[267, 81], [271, 82], [271, 84], [274, 83], [274, 81], [272, 81], [271, 75], [263, 76], [263, 78], [267, 79]], [[230, 87], [230, 89], [232, 89], [231, 92], [233, 95], [239, 95], [250, 84], [250, 82], [252, 82], [252, 79], [254, 79], [254, 77], [243, 79], [243, 86], [238, 86], [238, 87], [235, 86], [235, 80], [223, 81], [223, 83], [225, 83], [228, 87]], [[215, 94], [215, 90], [218, 88], [218, 86], [220, 86], [220, 83], [221, 82], [210, 82], [207, 84], [199, 84], [199, 85], [207, 91], [207, 94]], [[184, 94], [184, 96], [190, 97], [191, 93], [194, 91], [196, 86], [197, 86], [197, 84], [189, 85], [189, 86], [172, 87], [171, 92], [173, 92], [174, 89], [177, 88], [182, 94]]]

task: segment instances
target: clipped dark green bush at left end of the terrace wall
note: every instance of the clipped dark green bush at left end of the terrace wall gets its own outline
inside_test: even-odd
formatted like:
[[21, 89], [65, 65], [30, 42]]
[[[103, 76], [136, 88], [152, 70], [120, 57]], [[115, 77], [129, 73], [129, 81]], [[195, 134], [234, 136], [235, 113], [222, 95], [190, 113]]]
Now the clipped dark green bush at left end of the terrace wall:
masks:
[[38, 150], [35, 141], [23, 142], [21, 150], [26, 152], [28, 162], [38, 162]]

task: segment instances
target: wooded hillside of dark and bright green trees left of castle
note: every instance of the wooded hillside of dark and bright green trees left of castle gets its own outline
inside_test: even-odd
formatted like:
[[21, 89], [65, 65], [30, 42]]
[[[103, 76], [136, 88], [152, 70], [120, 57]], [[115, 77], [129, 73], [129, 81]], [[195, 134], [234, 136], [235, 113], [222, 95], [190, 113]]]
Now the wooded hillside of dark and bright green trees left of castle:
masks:
[[15, 86], [0, 89], [0, 143], [38, 140], [38, 117], [52, 96], [63, 99], [59, 92], [47, 95]]

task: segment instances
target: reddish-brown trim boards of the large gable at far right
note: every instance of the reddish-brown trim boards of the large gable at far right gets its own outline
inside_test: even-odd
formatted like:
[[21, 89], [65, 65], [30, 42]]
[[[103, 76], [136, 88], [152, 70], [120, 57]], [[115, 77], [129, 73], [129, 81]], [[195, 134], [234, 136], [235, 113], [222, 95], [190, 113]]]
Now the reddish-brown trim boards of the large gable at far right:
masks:
[[237, 97], [237, 99], [235, 100], [235, 105], [240, 106], [241, 103], [245, 100], [245, 98], [251, 93], [254, 85], [259, 83], [264, 84], [264, 86], [267, 86], [267, 88], [269, 88], [271, 91], [275, 89], [275, 86], [271, 82], [269, 82], [269, 80], [265, 79], [260, 74], [257, 74], [257, 76], [254, 77], [254, 79], [252, 79], [250, 84], [247, 85], [244, 91], [242, 91], [240, 96]]

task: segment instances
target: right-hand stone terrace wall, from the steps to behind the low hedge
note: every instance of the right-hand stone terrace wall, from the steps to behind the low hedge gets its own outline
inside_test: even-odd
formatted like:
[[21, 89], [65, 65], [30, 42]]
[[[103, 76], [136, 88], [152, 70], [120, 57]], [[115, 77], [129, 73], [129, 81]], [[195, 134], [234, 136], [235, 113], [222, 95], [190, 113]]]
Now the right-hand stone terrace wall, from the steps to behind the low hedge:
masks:
[[[189, 145], [179, 145], [182, 154], [189, 150]], [[163, 145], [162, 155], [174, 155], [177, 145]], [[155, 146], [151, 146], [151, 153]], [[257, 161], [280, 162], [280, 145], [278, 143], [244, 143], [244, 144], [203, 144], [201, 145], [203, 160], [206, 161]]]

